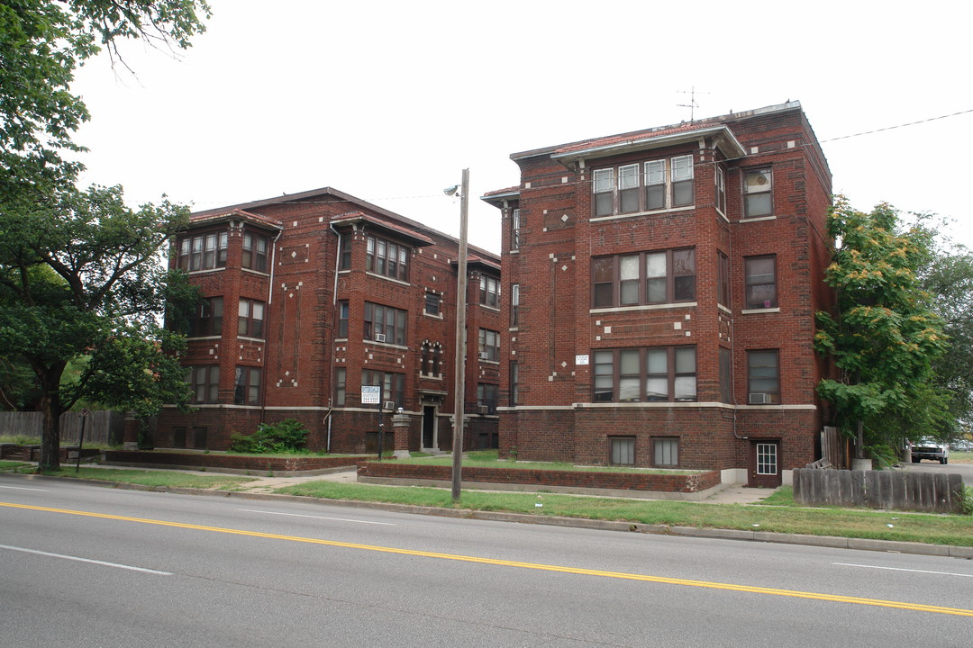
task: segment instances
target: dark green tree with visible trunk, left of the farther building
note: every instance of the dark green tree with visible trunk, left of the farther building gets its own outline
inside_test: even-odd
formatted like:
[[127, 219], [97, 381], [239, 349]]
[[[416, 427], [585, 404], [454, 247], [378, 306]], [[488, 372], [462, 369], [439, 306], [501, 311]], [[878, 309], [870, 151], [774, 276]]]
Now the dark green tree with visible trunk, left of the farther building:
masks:
[[[186, 207], [126, 207], [121, 188], [68, 190], [53, 207], [4, 214], [0, 236], [0, 356], [24, 358], [41, 390], [43, 469], [58, 465], [58, 419], [80, 398], [145, 416], [188, 386], [175, 357], [182, 336], [158, 322], [161, 304], [192, 294], [161, 250], [185, 227]], [[88, 356], [76, 383], [68, 363]]]

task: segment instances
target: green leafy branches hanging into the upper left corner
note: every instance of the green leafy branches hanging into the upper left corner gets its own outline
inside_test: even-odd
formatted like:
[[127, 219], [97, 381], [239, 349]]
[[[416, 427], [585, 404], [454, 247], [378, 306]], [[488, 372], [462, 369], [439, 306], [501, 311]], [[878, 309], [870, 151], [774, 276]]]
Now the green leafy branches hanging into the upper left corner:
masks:
[[0, 194], [73, 179], [90, 118], [71, 92], [74, 72], [102, 48], [121, 61], [125, 39], [186, 49], [210, 16], [202, 0], [16, 0], [0, 3]]

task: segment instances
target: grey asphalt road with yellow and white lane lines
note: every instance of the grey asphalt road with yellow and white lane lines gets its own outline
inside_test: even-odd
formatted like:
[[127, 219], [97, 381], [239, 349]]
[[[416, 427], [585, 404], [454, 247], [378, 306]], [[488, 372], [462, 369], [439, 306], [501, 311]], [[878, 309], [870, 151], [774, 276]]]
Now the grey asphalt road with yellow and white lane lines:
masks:
[[0, 475], [0, 645], [968, 646], [973, 562]]

